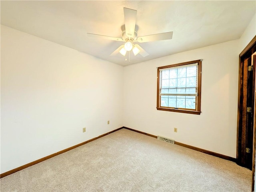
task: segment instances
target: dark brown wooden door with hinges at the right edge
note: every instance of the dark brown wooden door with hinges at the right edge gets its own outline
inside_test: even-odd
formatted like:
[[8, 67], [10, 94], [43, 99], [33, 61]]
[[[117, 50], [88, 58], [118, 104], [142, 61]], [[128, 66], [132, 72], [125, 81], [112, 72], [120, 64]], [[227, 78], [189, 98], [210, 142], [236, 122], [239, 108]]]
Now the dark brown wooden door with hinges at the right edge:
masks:
[[240, 102], [238, 104], [238, 153], [237, 164], [252, 170], [254, 127], [255, 66], [251, 55], [240, 62]]

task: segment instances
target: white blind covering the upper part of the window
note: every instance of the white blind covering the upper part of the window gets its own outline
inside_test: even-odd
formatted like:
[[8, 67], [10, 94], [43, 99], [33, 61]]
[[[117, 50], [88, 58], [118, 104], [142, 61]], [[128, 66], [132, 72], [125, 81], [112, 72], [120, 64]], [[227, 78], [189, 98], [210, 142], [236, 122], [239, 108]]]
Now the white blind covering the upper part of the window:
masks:
[[160, 69], [160, 96], [197, 96], [198, 63]]

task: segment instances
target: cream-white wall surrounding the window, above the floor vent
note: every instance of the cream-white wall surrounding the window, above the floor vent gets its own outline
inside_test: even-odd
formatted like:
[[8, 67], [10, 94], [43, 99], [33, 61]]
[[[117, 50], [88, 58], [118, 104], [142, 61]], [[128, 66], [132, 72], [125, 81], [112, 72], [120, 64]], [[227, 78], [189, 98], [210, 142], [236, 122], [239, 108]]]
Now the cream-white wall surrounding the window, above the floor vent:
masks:
[[[238, 43], [234, 40], [124, 67], [124, 126], [236, 157]], [[203, 59], [201, 115], [156, 110], [156, 67], [197, 59]]]

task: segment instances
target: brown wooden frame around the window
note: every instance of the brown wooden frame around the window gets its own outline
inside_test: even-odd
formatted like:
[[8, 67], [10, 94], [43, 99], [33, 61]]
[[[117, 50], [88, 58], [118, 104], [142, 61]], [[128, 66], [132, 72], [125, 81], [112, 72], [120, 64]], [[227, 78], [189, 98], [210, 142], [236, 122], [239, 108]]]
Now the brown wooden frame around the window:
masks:
[[[196, 96], [196, 110], [194, 109], [184, 109], [184, 108], [174, 108], [174, 107], [160, 107], [161, 97], [159, 95], [159, 88], [160, 88], [160, 69], [165, 68], [171, 68], [171, 67], [179, 67], [182, 65], [189, 65], [193, 63], [198, 63], [198, 71], [197, 71], [197, 92], [198, 95]], [[172, 65], [166, 65], [162, 67], [157, 68], [157, 103], [156, 103], [156, 109], [161, 111], [172, 111], [172, 112], [178, 112], [178, 113], [190, 113], [195, 115], [200, 115], [201, 113], [201, 76], [202, 76], [202, 59], [195, 60], [195, 61], [188, 61], [184, 63], [177, 63]]]

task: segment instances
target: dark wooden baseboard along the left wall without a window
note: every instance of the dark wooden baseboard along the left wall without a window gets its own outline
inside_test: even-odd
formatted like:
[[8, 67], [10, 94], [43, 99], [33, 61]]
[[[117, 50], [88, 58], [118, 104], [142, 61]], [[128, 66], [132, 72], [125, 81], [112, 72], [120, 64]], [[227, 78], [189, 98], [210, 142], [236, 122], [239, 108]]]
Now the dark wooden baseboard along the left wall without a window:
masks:
[[103, 135], [100, 135], [100, 136], [98, 136], [98, 137], [94, 137], [93, 139], [90, 139], [90, 140], [85, 141], [85, 142], [83, 142], [83, 143], [76, 144], [76, 145], [74, 145], [74, 146], [71, 146], [71, 147], [66, 148], [66, 149], [64, 149], [64, 150], [61, 150], [61, 151], [56, 152], [56, 153], [54, 153], [54, 154], [50, 154], [50, 155], [48, 155], [48, 156], [46, 156], [46, 157], [43, 157], [43, 158], [40, 158], [40, 159], [35, 160], [35, 161], [33, 161], [33, 162], [30, 162], [30, 163], [28, 163], [28, 164], [22, 165], [22, 166], [20, 166], [20, 167], [18, 167], [18, 168], [12, 169], [12, 170], [7, 171], [7, 172], [4, 172], [4, 173], [0, 174], [0, 178], [5, 177], [5, 176], [7, 176], [7, 175], [10, 175], [10, 174], [12, 174], [12, 173], [15, 173], [15, 172], [17, 172], [17, 171], [20, 171], [20, 170], [22, 170], [22, 169], [24, 169], [24, 168], [30, 167], [30, 166], [32, 166], [32, 165], [34, 165], [34, 164], [37, 164], [37, 163], [39, 163], [39, 162], [42, 162], [42, 161], [44, 161], [44, 160], [47, 160], [47, 159], [52, 158], [52, 157], [54, 157], [54, 156], [57, 156], [57, 155], [59, 155], [59, 154], [62, 154], [62, 153], [64, 153], [64, 152], [67, 152], [67, 151], [69, 151], [69, 150], [72, 150], [72, 149], [74, 149], [74, 148], [76, 148], [76, 147], [78, 147], [78, 146], [81, 146], [81, 145], [83, 145], [83, 144], [86, 144], [86, 143], [89, 143], [89, 142], [94, 141], [94, 140], [96, 140], [96, 139], [99, 139], [100, 137], [104, 137], [104, 136], [106, 136], [106, 135], [108, 135], [108, 134], [110, 134], [110, 133], [113, 133], [113, 132], [118, 131], [118, 130], [123, 129], [123, 128], [124, 128], [124, 127], [120, 127], [120, 128], [118, 128], [118, 129], [115, 129], [115, 130], [113, 130], [113, 131], [110, 131], [110, 132], [108, 132], [108, 133], [105, 133], [105, 134], [103, 134]]

